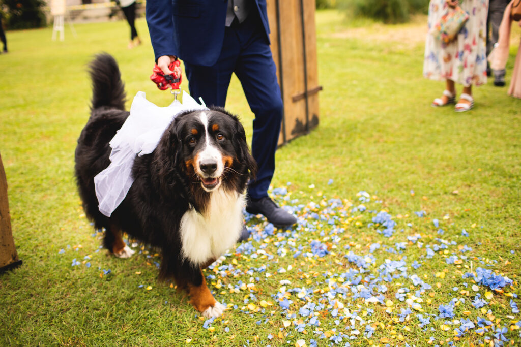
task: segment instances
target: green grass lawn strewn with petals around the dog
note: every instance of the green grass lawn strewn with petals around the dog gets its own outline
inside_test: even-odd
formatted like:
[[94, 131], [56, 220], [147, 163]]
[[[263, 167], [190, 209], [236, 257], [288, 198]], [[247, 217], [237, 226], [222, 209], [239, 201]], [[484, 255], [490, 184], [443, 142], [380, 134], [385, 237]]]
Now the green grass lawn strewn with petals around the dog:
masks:
[[[153, 250], [121, 260], [100, 248], [73, 178], [94, 54], [118, 60], [128, 107], [138, 91], [172, 99], [148, 81], [145, 21], [131, 50], [123, 21], [77, 24], [77, 37], [66, 25], [64, 42], [52, 28], [7, 32], [0, 153], [23, 265], [0, 275], [0, 345], [519, 344], [521, 100], [489, 81], [470, 112], [430, 107], [443, 83], [422, 76], [426, 17], [316, 20], [320, 124], [279, 149], [272, 181], [299, 224], [249, 216], [253, 237], [205, 272], [230, 307], [213, 322], [157, 282]], [[235, 78], [227, 108], [251, 137]], [[482, 269], [513, 282], [491, 288]]]

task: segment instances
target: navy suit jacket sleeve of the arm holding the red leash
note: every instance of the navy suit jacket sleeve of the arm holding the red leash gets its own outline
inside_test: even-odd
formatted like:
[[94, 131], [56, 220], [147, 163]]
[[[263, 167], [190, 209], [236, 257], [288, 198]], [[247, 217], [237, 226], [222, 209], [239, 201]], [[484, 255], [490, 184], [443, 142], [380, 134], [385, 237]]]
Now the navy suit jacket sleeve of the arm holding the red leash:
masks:
[[179, 56], [179, 53], [176, 52], [177, 45], [173, 35], [172, 1], [147, 1], [146, 23], [156, 62], [160, 56]]

